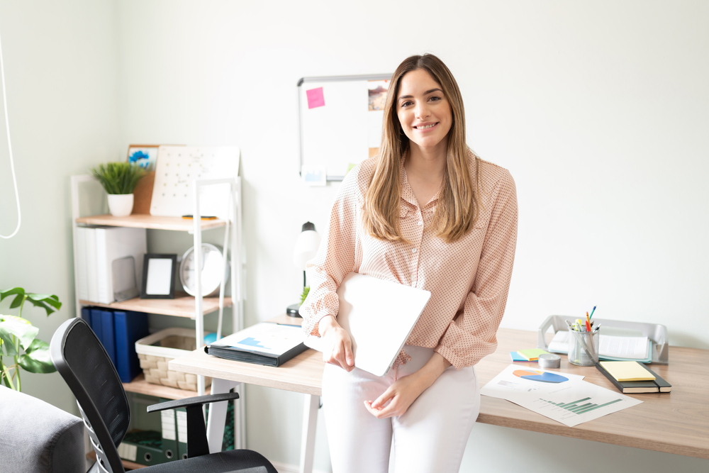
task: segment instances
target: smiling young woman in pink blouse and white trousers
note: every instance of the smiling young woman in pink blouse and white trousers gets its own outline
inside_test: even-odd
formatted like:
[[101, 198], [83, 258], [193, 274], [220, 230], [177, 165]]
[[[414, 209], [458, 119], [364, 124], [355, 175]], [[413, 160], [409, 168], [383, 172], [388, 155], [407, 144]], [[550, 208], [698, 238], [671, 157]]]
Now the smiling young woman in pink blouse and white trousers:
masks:
[[[396, 472], [458, 471], [479, 413], [474, 365], [497, 345], [516, 239], [515, 182], [467, 148], [450, 70], [434, 55], [408, 57], [391, 77], [379, 156], [345, 177], [308, 265], [301, 314], [329, 347], [333, 472], [387, 472], [391, 450]], [[336, 291], [349, 272], [431, 292], [384, 377], [354, 366], [337, 324]]]

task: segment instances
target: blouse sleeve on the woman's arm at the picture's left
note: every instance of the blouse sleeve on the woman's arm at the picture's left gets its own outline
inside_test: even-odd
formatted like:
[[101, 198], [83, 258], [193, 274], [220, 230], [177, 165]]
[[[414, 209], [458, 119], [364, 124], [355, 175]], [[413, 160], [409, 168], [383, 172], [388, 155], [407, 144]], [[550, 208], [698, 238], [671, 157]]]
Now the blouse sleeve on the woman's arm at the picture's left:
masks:
[[340, 307], [337, 288], [354, 269], [359, 168], [354, 167], [342, 181], [330, 213], [328, 236], [320, 243], [318, 254], [306, 267], [311, 289], [299, 312], [303, 316], [303, 331], [311, 335], [320, 335], [320, 319], [337, 316]]

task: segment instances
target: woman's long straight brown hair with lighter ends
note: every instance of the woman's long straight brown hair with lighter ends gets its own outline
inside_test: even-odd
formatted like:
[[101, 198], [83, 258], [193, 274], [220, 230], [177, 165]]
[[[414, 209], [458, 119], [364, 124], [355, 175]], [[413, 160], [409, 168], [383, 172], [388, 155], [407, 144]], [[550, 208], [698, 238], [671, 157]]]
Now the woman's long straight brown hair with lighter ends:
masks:
[[465, 144], [465, 112], [463, 98], [453, 74], [435, 55], [407, 57], [391, 76], [389, 93], [384, 106], [384, 127], [381, 133], [379, 157], [364, 194], [362, 213], [364, 229], [380, 240], [402, 241], [399, 225], [401, 199], [401, 172], [399, 162], [410, 148], [408, 137], [398, 121], [396, 104], [401, 78], [408, 72], [424, 69], [441, 85], [450, 104], [452, 125], [448, 132], [446, 169], [443, 174], [439, 203], [433, 216], [432, 228], [446, 243], [459, 240], [470, 230], [478, 218], [480, 201], [479, 164], [475, 156], [475, 178], [468, 164], [468, 147]]

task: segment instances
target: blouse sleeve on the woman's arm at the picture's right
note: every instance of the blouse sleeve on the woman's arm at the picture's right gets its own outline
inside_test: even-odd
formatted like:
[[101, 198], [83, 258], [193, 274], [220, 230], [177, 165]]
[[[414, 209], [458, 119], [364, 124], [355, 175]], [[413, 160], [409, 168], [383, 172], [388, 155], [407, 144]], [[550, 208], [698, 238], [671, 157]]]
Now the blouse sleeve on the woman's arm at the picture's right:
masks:
[[476, 365], [497, 347], [517, 245], [517, 191], [509, 172], [493, 189], [493, 207], [474, 283], [462, 311], [450, 322], [435, 351], [456, 369]]

